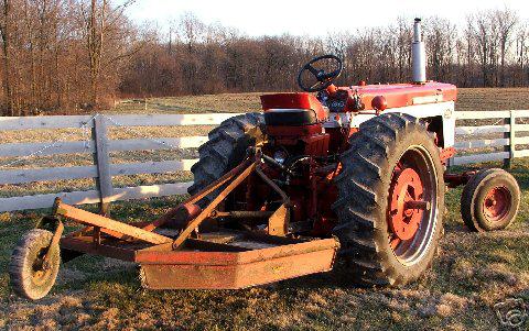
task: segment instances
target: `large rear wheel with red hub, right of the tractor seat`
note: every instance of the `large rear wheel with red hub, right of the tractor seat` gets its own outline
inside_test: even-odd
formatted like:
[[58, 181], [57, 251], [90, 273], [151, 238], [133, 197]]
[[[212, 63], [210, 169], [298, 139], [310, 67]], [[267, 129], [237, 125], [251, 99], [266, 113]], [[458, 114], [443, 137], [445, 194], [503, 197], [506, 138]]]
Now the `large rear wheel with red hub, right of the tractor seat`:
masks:
[[442, 234], [439, 148], [418, 119], [397, 113], [364, 122], [349, 143], [333, 205], [346, 271], [363, 285], [413, 282], [430, 267]]

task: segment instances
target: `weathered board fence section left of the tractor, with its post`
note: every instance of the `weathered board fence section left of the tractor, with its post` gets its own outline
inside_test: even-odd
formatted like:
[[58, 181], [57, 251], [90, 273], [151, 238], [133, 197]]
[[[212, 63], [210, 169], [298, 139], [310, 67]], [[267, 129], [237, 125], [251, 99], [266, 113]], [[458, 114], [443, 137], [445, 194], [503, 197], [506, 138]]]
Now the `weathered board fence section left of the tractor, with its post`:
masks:
[[91, 131], [88, 141], [0, 144], [0, 157], [94, 155], [94, 165], [88, 166], [0, 169], [0, 185], [80, 178], [96, 180], [94, 190], [0, 198], [0, 212], [48, 208], [56, 197], [61, 197], [66, 203], [72, 205], [101, 203], [102, 211], [106, 211], [108, 203], [112, 201], [185, 194], [191, 183], [114, 188], [112, 177], [190, 170], [196, 159], [112, 164], [109, 153], [197, 148], [207, 141], [207, 136], [109, 140], [107, 128], [218, 125], [234, 115], [236, 113], [0, 118], [0, 132], [39, 129]]

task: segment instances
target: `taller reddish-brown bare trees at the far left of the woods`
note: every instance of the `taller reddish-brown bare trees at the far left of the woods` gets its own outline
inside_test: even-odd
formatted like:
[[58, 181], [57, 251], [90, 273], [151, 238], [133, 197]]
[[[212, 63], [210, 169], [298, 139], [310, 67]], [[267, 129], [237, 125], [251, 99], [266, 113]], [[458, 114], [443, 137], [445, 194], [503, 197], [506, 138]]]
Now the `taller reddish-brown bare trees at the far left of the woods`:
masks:
[[105, 107], [142, 41], [108, 0], [1, 0], [4, 115]]

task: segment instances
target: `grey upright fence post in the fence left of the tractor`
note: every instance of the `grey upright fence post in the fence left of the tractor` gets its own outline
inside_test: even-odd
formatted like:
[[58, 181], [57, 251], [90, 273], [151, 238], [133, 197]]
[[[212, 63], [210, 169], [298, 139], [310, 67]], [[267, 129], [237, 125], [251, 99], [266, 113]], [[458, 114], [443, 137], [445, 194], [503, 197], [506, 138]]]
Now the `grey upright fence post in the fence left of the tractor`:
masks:
[[110, 201], [112, 196], [112, 177], [110, 176], [110, 155], [108, 153], [107, 122], [102, 115], [94, 118], [91, 137], [96, 145], [94, 164], [97, 167], [96, 187], [99, 191], [99, 212], [109, 216]]

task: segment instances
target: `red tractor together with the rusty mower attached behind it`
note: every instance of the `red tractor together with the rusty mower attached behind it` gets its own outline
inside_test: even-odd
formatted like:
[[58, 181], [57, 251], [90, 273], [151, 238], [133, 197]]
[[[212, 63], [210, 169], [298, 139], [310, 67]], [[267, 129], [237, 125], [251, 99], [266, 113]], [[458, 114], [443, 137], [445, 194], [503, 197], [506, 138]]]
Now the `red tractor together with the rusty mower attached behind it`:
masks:
[[[460, 185], [472, 230], [506, 228], [520, 201], [512, 176], [446, 170], [456, 87], [427, 80], [420, 20], [412, 55], [413, 82], [348, 87], [333, 84], [338, 57], [314, 58], [299, 75], [304, 92], [264, 95], [263, 112], [209, 133], [191, 197], [154, 221], [127, 224], [57, 199], [13, 252], [13, 289], [44, 297], [61, 260], [82, 254], [138, 263], [152, 289], [245, 288], [336, 262], [350, 282], [400, 286], [431, 265], [445, 191]], [[63, 222], [85, 228], [63, 235]]]

